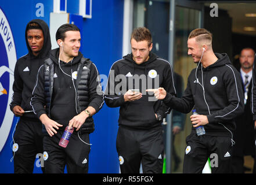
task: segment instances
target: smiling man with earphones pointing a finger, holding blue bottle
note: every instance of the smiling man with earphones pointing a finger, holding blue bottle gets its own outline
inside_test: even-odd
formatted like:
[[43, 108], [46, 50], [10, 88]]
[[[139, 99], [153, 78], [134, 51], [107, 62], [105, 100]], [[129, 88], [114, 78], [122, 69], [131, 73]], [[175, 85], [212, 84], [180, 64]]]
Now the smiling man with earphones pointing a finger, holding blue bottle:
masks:
[[[183, 173], [201, 173], [211, 156], [218, 156], [211, 166], [212, 173], [230, 173], [234, 119], [244, 109], [241, 77], [227, 54], [212, 51], [212, 34], [206, 29], [190, 32], [188, 54], [197, 68], [190, 73], [182, 98], [175, 98], [161, 87], [147, 91], [153, 91], [157, 99], [180, 112], [196, 109], [197, 114], [190, 116], [193, 127], [186, 138]], [[195, 129], [199, 126], [205, 130], [200, 136]]]

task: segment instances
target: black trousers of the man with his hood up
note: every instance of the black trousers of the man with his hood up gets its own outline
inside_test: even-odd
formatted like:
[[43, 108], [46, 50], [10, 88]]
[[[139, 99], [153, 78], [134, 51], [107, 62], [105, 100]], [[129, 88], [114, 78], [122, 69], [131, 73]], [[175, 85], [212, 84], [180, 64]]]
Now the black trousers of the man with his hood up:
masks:
[[[15, 173], [33, 173], [37, 154], [43, 153], [42, 123], [20, 119], [13, 135], [17, 151], [13, 152]], [[44, 173], [44, 168], [42, 168]]]

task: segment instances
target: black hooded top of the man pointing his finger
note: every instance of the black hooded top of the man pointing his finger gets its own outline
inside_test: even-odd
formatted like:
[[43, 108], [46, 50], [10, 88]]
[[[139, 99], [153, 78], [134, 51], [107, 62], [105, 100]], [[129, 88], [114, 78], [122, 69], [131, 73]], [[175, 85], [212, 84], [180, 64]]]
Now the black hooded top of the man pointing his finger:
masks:
[[[206, 115], [207, 135], [230, 136], [236, 128], [235, 118], [243, 113], [244, 95], [240, 73], [231, 64], [227, 54], [215, 53], [218, 60], [207, 68], [201, 63], [188, 77], [182, 98], [167, 94], [164, 103], [183, 113], [196, 109]], [[192, 133], [195, 133], [192, 127]]]

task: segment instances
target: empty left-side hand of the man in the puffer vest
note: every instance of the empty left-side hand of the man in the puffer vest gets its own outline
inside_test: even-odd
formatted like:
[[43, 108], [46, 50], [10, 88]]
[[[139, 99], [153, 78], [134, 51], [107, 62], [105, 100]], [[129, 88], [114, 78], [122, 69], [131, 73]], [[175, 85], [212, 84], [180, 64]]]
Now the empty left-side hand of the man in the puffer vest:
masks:
[[42, 124], [45, 125], [45, 129], [50, 136], [53, 136], [54, 133], [57, 134], [57, 131], [55, 129], [59, 129], [59, 127], [63, 126], [63, 125], [57, 123], [56, 121], [49, 119], [49, 117], [46, 114], [42, 114], [39, 117], [39, 119], [41, 120]]

